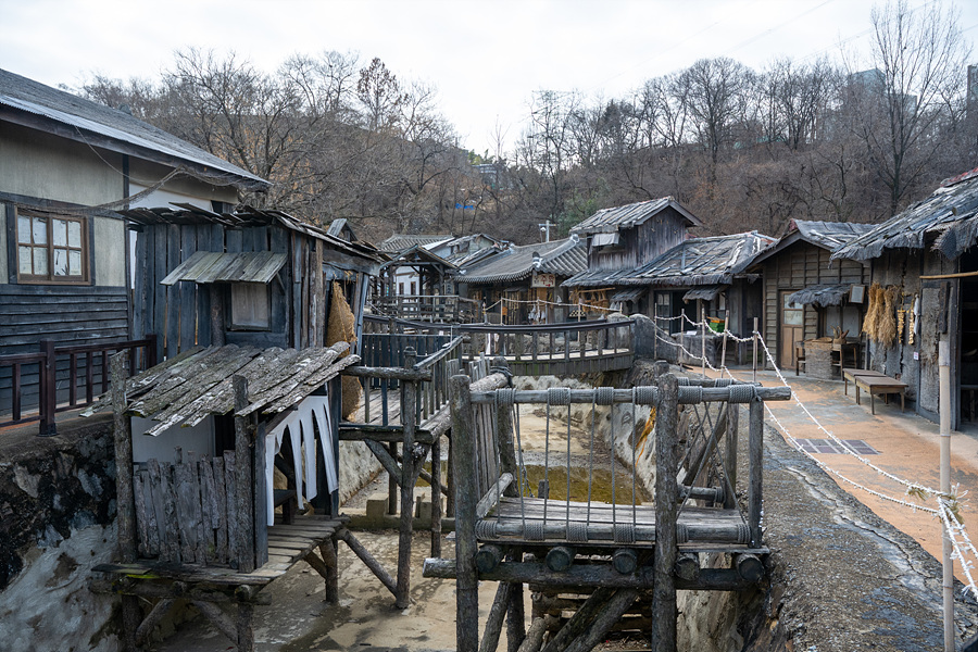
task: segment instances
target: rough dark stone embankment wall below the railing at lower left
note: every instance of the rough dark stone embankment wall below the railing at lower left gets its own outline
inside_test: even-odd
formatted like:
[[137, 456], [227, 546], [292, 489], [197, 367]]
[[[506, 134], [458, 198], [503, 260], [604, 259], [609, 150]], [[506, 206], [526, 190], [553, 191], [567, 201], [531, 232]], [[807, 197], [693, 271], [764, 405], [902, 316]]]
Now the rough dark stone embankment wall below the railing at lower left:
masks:
[[114, 651], [112, 597], [88, 590], [115, 551], [111, 421], [0, 435], [0, 648]]

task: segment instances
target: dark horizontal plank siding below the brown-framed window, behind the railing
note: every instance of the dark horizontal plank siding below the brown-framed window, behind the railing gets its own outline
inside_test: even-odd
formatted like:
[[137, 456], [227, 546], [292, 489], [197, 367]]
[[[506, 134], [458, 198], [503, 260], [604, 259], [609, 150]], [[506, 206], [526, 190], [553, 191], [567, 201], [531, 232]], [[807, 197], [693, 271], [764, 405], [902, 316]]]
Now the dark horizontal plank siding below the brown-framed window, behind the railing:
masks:
[[[127, 306], [124, 287], [0, 285], [0, 355], [38, 352], [46, 338], [55, 346], [129, 339]], [[66, 363], [59, 364], [59, 399], [67, 399], [67, 375]], [[0, 366], [0, 410], [11, 405], [11, 367]], [[37, 365], [23, 367], [21, 377], [22, 406], [37, 408]]]

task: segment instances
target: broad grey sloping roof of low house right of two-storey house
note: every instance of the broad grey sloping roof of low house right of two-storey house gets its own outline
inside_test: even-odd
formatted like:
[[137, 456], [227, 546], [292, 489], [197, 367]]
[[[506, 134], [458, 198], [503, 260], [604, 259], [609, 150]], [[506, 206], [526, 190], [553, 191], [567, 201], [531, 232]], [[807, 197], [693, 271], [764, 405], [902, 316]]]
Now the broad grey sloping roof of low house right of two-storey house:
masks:
[[616, 283], [680, 287], [729, 284], [774, 241], [757, 231], [691, 238]]

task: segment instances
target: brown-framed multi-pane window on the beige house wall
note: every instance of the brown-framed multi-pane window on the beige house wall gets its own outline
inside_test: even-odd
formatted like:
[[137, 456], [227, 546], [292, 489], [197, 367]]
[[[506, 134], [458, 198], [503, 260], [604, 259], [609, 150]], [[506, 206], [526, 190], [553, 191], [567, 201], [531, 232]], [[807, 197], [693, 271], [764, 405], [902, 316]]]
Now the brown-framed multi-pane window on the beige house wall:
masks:
[[85, 217], [17, 214], [17, 279], [25, 283], [87, 283]]

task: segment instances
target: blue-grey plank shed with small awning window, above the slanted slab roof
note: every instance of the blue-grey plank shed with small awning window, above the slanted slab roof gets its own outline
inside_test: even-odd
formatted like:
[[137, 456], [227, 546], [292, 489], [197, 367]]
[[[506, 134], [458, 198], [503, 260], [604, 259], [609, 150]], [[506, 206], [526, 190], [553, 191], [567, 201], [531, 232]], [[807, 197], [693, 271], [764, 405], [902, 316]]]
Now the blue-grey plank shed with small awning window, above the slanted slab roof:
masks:
[[226, 343], [322, 347], [337, 287], [331, 281], [353, 314], [343, 339], [359, 351], [368, 280], [381, 261], [374, 247], [250, 206], [228, 213], [191, 205], [131, 209], [123, 215], [137, 233], [134, 330], [155, 333], [161, 358]]

